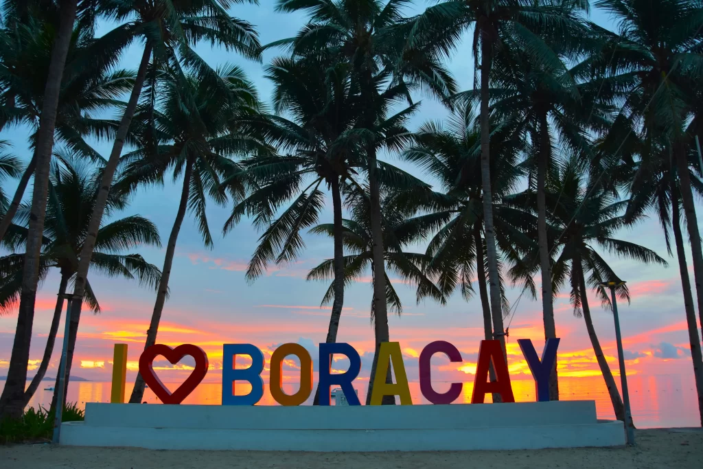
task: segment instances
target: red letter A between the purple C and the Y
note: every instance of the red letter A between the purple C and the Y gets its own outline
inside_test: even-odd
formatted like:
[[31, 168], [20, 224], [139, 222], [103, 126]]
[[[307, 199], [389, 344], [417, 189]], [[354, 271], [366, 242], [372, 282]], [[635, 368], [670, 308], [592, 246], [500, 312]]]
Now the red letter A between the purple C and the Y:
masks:
[[[493, 361], [493, 368], [496, 371], [496, 381], [488, 381], [488, 368]], [[510, 387], [510, 375], [508, 366], [503, 358], [503, 349], [498, 340], [482, 340], [479, 345], [479, 362], [476, 364], [476, 375], [474, 377], [474, 392], [471, 394], [471, 404], [483, 404], [486, 393], [496, 392], [501, 394], [503, 402], [515, 402]]]

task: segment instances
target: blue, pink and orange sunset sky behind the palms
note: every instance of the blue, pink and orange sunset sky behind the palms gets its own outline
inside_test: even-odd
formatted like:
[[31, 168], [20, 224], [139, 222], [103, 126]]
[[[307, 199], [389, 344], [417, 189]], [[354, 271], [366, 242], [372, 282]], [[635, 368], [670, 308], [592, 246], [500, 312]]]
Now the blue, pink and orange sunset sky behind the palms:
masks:
[[[237, 6], [233, 15], [257, 25], [262, 44], [290, 37], [304, 23], [303, 15], [273, 13], [273, 0], [262, 0], [261, 6]], [[425, 8], [420, 3], [416, 10]], [[412, 11], [408, 10], [408, 14]], [[599, 11], [591, 18], [601, 25], [614, 27]], [[103, 25], [102, 32], [109, 25]], [[236, 54], [199, 46], [198, 51], [211, 65], [236, 63], [259, 89], [266, 101], [271, 96], [271, 84], [263, 78], [262, 65], [240, 58]], [[269, 51], [264, 63], [280, 51]], [[136, 68], [141, 51], [132, 48], [124, 56], [122, 66]], [[458, 49], [449, 68], [463, 89], [472, 84], [472, 56], [470, 41]], [[422, 96], [418, 96], [422, 98]], [[446, 111], [441, 105], [425, 98], [420, 113], [415, 115], [411, 128], [418, 127], [428, 119], [441, 119]], [[29, 159], [27, 151], [27, 129], [13, 128], [0, 133], [0, 139], [9, 139], [18, 155]], [[111, 143], [96, 143], [96, 148], [107, 157]], [[422, 176], [418, 169], [394, 160], [415, 175]], [[11, 188], [13, 190], [13, 188]], [[8, 190], [8, 192], [10, 192]], [[165, 187], [147, 188], [138, 193], [134, 203], [120, 216], [141, 214], [157, 224], [162, 242], [165, 244], [179, 201], [180, 185], [167, 183]], [[331, 204], [330, 204], [331, 205]], [[316, 361], [317, 344], [325, 340], [330, 309], [319, 304], [327, 284], [308, 282], [307, 271], [323, 259], [331, 257], [332, 244], [327, 238], [308, 235], [307, 248], [295, 264], [271, 266], [268, 273], [252, 285], [244, 278], [247, 260], [257, 244], [257, 233], [244, 220], [223, 238], [221, 227], [228, 217], [228, 207], [209, 205], [210, 228], [215, 236], [214, 249], [206, 250], [192, 217], [186, 218], [176, 248], [176, 258], [170, 280], [170, 297], [165, 306], [157, 342], [167, 345], [193, 343], [205, 349], [209, 357], [210, 371], [205, 380], [219, 381], [221, 378], [222, 344], [248, 342], [264, 351], [266, 359], [271, 352], [285, 342], [304, 345]], [[700, 207], [699, 207], [700, 210]], [[699, 212], [703, 213], [703, 212]], [[325, 211], [321, 222], [331, 222], [331, 207]], [[669, 257], [664, 245], [664, 236], [656, 219], [647, 219], [631, 231], [621, 231], [619, 237], [652, 248], [669, 261], [669, 268], [646, 266], [612, 257], [614, 270], [628, 281], [632, 303], [619, 304], [621, 327], [624, 336], [626, 364], [629, 373], [669, 374], [692, 373], [688, 334], [686, 332], [681, 281], [674, 257]], [[423, 247], [417, 248], [421, 250]], [[161, 267], [165, 249], [143, 248], [139, 251], [149, 262]], [[692, 269], [691, 269], [692, 276]], [[370, 278], [370, 275], [368, 276]], [[37, 297], [36, 314], [30, 355], [30, 370], [37, 368], [44, 352], [46, 333], [56, 302], [58, 275], [51, 274], [42, 285]], [[105, 278], [97, 274], [90, 278], [93, 290], [103, 308], [95, 316], [84, 311], [81, 318], [77, 352], [73, 374], [89, 380], [110, 380], [112, 345], [117, 342], [129, 344], [129, 366], [127, 380], [134, 380], [136, 362], [143, 349], [155, 293], [139, 288], [136, 283], [120, 279]], [[404, 351], [408, 378], [417, 380], [417, 356], [427, 343], [434, 340], [452, 342], [462, 352], [462, 364], [449, 364], [446, 358], [435, 358], [433, 378], [436, 380], [473, 379], [479, 340], [483, 338], [482, 313], [478, 298], [465, 302], [454, 295], [446, 307], [427, 300], [415, 304], [412, 286], [394, 281], [404, 304], [401, 317], [389, 319], [390, 337], [401, 343]], [[511, 302], [517, 300], [520, 288], [508, 292]], [[353, 285], [344, 297], [344, 312], [340, 323], [338, 342], [350, 342], [362, 355], [361, 375], [368, 377], [373, 354], [373, 326], [369, 319], [371, 289], [368, 280]], [[612, 314], [600, 309], [600, 302], [591, 298], [591, 309], [595, 328], [614, 372], [617, 370], [617, 350], [614, 342]], [[569, 305], [568, 292], [562, 291], [555, 303], [557, 335], [561, 338], [558, 357], [559, 373], [562, 376], [588, 376], [600, 373], [595, 363], [591, 343], [588, 340], [583, 319], [576, 318]], [[0, 375], [5, 375], [11, 356], [11, 347], [16, 312], [0, 317]], [[538, 351], [543, 345], [541, 304], [524, 295], [515, 314], [506, 319], [510, 327], [508, 354], [511, 377], [529, 378], [529, 369], [524, 361], [517, 339], [531, 338]], [[63, 325], [60, 328], [63, 331]], [[47, 375], [55, 376], [60, 356], [60, 337], [54, 349], [53, 361]], [[172, 368], [159, 363], [157, 366]], [[335, 368], [343, 368], [337, 364]], [[294, 364], [288, 366], [290, 378]], [[176, 367], [177, 368], [177, 367]], [[266, 366], [268, 368], [268, 364]], [[162, 381], [181, 380], [183, 371], [162, 370]], [[264, 373], [265, 375], [267, 373]], [[33, 372], [30, 371], [30, 377]]]

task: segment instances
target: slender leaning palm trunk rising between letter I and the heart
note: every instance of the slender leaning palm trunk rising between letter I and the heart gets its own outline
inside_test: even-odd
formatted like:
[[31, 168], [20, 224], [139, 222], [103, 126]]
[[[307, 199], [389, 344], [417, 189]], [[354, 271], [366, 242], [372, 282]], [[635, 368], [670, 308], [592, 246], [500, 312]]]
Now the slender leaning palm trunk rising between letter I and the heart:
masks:
[[[186, 172], [183, 175], [181, 203], [178, 207], [178, 212], [176, 213], [176, 220], [174, 221], [174, 226], [171, 229], [169, 243], [166, 246], [166, 256], [164, 258], [164, 268], [161, 271], [159, 290], [156, 294], [156, 302], [154, 304], [154, 311], [151, 314], [151, 323], [149, 324], [149, 330], [146, 331], [146, 345], [144, 345], [145, 350], [156, 343], [156, 334], [159, 331], [161, 313], [164, 309], [166, 295], [169, 290], [169, 277], [171, 276], [171, 266], [174, 261], [174, 254], [176, 253], [176, 241], [178, 240], [178, 235], [181, 231], [181, 225], [183, 224], [183, 218], [186, 217], [186, 209], [188, 208], [188, 194], [191, 191], [191, 177], [193, 176], [193, 164], [193, 158], [188, 157], [188, 160], [186, 162]], [[144, 397], [144, 384], [144, 379], [141, 377], [141, 373], [137, 373], [136, 380], [134, 381], [134, 389], [132, 390], [131, 396], [129, 397], [129, 402], [136, 404], [141, 402], [142, 397]]]

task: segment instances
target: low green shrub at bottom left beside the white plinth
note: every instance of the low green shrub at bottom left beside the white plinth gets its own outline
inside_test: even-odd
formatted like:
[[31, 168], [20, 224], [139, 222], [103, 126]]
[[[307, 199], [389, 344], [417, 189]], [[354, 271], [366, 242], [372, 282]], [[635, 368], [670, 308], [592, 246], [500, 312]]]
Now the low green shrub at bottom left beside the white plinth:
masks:
[[[53, 435], [54, 412], [39, 406], [38, 410], [30, 407], [15, 420], [5, 418], [0, 422], [0, 444], [21, 443], [31, 441], [50, 441]], [[84, 420], [84, 411], [75, 403], [63, 407], [62, 422]]]

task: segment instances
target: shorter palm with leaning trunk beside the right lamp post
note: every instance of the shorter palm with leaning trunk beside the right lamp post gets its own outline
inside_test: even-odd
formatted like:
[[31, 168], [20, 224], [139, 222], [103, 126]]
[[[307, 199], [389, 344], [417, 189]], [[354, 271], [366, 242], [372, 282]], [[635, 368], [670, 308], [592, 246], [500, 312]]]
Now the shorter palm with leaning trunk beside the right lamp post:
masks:
[[[550, 236], [557, 248], [561, 248], [553, 264], [553, 288], [554, 291], [558, 291], [565, 282], [569, 281], [571, 284], [574, 314], [578, 317], [583, 311], [588, 338], [591, 339], [595, 358], [605, 379], [615, 416], [625, 421], [622, 399], [595, 333], [587, 296], [588, 287], [595, 288], [602, 305], [610, 309], [612, 306], [608, 292], [600, 286], [600, 283], [617, 279], [618, 276], [595, 246], [612, 255], [645, 264], [655, 263], [662, 266], [667, 264], [662, 257], [650, 249], [613, 238], [614, 233], [626, 226], [624, 210], [628, 201], [617, 200], [610, 192], [585, 184], [579, 174], [579, 165], [573, 160], [566, 162], [562, 168], [554, 170], [547, 184], [547, 200], [550, 206], [555, 207], [549, 219], [552, 232]], [[534, 197], [530, 193], [515, 195], [511, 198], [511, 202], [516, 205], [529, 205], [536, 212]], [[588, 274], [588, 280], [586, 274]], [[629, 302], [630, 295], [626, 285], [622, 285], [616, 291], [621, 299]], [[632, 422], [627, 424], [632, 425]]]

